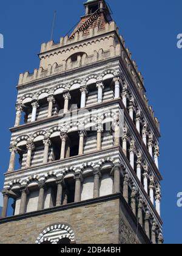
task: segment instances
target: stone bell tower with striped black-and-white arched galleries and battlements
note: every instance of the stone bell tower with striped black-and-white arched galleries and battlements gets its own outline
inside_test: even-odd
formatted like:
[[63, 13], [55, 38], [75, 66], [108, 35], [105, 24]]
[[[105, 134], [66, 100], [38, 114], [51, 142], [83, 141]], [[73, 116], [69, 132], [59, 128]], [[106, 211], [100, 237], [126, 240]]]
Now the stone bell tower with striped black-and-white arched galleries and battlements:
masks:
[[84, 6], [19, 76], [0, 243], [163, 243], [158, 119], [106, 1]]

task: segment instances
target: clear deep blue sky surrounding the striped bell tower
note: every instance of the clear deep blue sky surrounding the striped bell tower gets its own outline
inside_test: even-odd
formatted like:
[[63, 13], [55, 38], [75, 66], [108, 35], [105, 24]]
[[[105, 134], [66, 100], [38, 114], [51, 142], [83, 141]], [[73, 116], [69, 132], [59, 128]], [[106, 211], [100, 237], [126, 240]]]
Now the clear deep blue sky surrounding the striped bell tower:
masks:
[[[147, 96], [161, 123], [160, 171], [164, 178], [162, 216], [165, 242], [182, 243], [182, 208], [177, 207], [177, 193], [182, 191], [182, 49], [177, 48], [177, 35], [182, 33], [182, 1], [108, 2], [126, 46], [145, 78]], [[8, 128], [15, 121], [15, 86], [19, 73], [32, 72], [38, 67], [36, 54], [41, 43], [50, 39], [54, 10], [57, 10], [57, 18], [53, 38], [58, 41], [83, 15], [83, 0], [1, 1], [0, 33], [4, 35], [4, 49], [0, 49], [0, 187], [10, 157]]]

